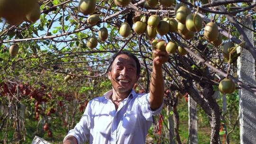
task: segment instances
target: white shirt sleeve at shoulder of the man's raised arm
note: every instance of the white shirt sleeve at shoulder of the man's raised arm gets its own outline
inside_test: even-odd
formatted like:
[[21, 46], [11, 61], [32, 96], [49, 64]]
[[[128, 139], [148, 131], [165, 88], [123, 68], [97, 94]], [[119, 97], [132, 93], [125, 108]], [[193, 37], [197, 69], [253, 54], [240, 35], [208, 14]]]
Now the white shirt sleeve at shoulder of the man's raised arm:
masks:
[[152, 110], [150, 108], [150, 104], [149, 104], [149, 96], [150, 96], [149, 93], [139, 95], [138, 96], [138, 101], [139, 101], [139, 104], [140, 104], [141, 113], [142, 113], [143, 117], [145, 117], [147, 121], [153, 121], [152, 116], [157, 115], [161, 112], [161, 110], [163, 108], [163, 105], [164, 105], [164, 101], [163, 101], [160, 108]]

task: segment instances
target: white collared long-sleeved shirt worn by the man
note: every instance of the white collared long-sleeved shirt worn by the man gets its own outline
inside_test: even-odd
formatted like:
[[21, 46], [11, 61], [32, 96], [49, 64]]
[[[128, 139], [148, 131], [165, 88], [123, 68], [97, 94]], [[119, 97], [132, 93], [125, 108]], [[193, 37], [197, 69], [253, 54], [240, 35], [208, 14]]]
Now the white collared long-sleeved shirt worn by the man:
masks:
[[[67, 136], [73, 135], [78, 144], [89, 141], [90, 144], [145, 144], [146, 134], [152, 125], [155, 114], [163, 108], [152, 111], [149, 105], [149, 93], [131, 91], [116, 111], [110, 100], [112, 90], [102, 97], [92, 99], [83, 113], [80, 122]], [[64, 138], [64, 139], [65, 139]]]

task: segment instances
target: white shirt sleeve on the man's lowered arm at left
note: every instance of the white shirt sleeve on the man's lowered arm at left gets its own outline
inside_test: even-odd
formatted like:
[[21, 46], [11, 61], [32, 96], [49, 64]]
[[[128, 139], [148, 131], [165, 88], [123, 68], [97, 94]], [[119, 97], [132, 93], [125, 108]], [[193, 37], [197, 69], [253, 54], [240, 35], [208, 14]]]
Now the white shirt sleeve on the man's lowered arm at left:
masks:
[[90, 129], [91, 129], [91, 101], [88, 103], [85, 111], [80, 119], [79, 123], [71, 129], [68, 134], [64, 137], [64, 140], [68, 136], [74, 136], [76, 138], [77, 144], [83, 144], [90, 139]]

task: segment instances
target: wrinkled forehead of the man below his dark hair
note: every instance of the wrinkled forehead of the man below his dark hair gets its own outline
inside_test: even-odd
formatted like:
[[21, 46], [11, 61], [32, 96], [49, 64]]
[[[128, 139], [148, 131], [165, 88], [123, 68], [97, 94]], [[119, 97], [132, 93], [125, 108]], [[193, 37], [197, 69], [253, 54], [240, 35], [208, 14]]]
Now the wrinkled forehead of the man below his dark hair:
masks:
[[126, 54], [120, 54], [115, 58], [113, 65], [118, 65], [118, 64], [130, 65], [136, 68], [135, 60]]

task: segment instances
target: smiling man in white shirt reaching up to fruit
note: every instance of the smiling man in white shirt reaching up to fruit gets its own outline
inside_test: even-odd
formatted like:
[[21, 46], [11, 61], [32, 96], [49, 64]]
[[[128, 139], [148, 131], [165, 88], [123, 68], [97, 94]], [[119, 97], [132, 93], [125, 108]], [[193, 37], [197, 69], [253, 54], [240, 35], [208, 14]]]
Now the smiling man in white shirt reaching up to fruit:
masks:
[[92, 99], [78, 124], [65, 136], [64, 144], [144, 144], [154, 114], [163, 107], [162, 64], [168, 54], [154, 50], [150, 92], [133, 90], [139, 79], [140, 63], [134, 54], [122, 51], [110, 65], [112, 90]]

